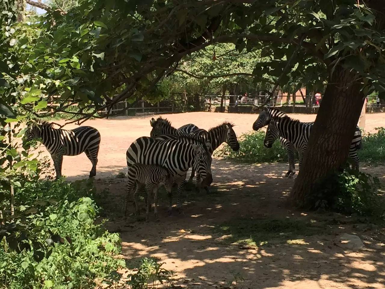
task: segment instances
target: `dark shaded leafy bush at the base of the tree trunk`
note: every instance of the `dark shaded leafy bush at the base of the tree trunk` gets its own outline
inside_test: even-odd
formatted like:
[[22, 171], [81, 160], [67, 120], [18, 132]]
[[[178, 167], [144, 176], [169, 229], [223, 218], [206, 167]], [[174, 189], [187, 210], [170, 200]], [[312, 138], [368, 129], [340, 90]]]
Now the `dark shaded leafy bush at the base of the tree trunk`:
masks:
[[345, 168], [330, 173], [315, 187], [308, 198], [315, 209], [329, 209], [341, 213], [383, 219], [385, 207], [380, 199], [380, 181], [377, 177]]

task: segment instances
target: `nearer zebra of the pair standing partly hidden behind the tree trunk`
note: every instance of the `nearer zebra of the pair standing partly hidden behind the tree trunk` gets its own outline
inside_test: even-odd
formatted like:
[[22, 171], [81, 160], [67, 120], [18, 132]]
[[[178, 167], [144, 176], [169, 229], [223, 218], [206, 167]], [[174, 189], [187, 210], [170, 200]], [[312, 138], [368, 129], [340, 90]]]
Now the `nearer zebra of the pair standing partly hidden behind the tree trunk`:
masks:
[[[289, 116], [275, 116], [268, 125], [264, 145], [267, 148], [271, 148], [277, 138], [283, 137], [287, 139], [298, 149], [300, 157], [299, 166], [301, 168], [301, 161], [305, 155], [313, 124], [302, 123], [299, 120], [291, 119]], [[357, 150], [361, 148], [361, 145], [361, 131], [357, 126], [349, 148], [349, 157], [353, 160], [353, 169], [355, 170], [358, 170], [360, 167]]]

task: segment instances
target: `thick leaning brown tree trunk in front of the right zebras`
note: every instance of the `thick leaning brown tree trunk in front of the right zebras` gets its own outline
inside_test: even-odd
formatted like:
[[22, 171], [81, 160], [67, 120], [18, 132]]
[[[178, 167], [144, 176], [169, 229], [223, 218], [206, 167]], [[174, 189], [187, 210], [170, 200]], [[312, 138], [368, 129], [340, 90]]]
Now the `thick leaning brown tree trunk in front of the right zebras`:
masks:
[[354, 74], [336, 67], [311, 131], [298, 177], [290, 194], [296, 206], [308, 206], [314, 185], [346, 162], [364, 96]]

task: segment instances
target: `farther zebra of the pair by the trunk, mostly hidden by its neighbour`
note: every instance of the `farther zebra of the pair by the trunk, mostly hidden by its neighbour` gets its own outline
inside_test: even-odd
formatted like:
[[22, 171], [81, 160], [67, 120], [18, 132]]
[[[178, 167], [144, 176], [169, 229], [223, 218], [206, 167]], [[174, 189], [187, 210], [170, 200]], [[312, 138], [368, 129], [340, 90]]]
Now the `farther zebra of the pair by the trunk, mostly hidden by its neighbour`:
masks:
[[[258, 129], [263, 128], [264, 126], [267, 126], [273, 117], [281, 117], [281, 116], [287, 116], [287, 114], [283, 113], [282, 111], [280, 111], [279, 109], [276, 109], [276, 108], [264, 108], [261, 111], [261, 113], [259, 113], [259, 116], [256, 119], [256, 121], [254, 121], [253, 130], [258, 131]], [[278, 139], [288, 154], [289, 170], [287, 171], [285, 177], [286, 178], [293, 178], [293, 176], [296, 173], [296, 171], [295, 171], [295, 146], [290, 141], [288, 141], [287, 139], [285, 139], [281, 136]]]

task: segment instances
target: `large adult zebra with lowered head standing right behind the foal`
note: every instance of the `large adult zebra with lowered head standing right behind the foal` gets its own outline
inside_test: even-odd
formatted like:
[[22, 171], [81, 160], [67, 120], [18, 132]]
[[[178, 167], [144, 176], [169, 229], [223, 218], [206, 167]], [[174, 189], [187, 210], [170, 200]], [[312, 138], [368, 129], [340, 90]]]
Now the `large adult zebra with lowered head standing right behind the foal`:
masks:
[[[181, 211], [181, 193], [186, 182], [186, 173], [192, 166], [203, 179], [202, 185], [211, 184], [212, 158], [208, 144], [180, 136], [177, 139], [155, 139], [142, 136], [136, 139], [126, 152], [127, 166], [135, 163], [159, 165], [166, 168], [177, 183], [177, 210]], [[168, 194], [169, 211], [172, 208], [172, 194]]]

